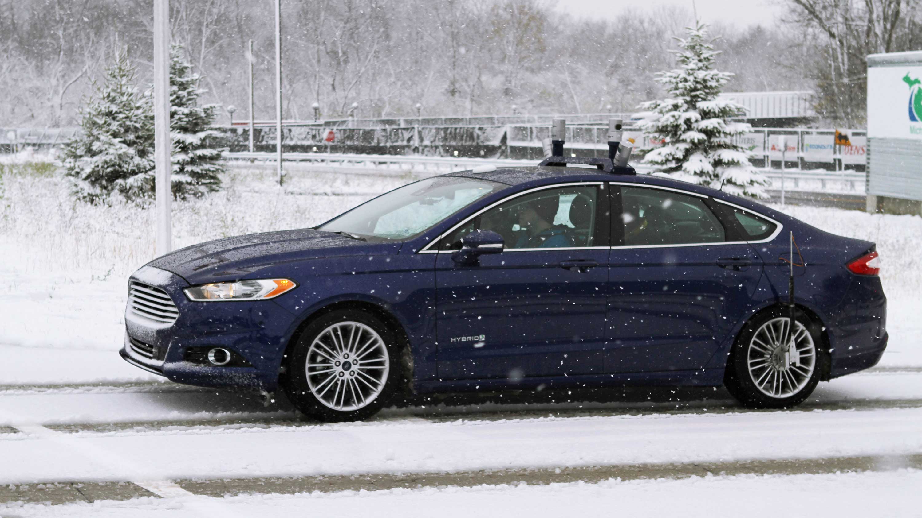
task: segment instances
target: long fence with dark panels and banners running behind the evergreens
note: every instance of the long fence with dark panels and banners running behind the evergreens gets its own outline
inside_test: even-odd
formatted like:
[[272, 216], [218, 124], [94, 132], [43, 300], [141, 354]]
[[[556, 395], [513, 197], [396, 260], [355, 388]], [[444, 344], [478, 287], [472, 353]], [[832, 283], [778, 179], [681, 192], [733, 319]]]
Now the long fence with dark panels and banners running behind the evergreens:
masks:
[[[585, 114], [585, 118], [596, 115]], [[465, 121], [548, 118], [543, 116], [505, 116], [464, 118]], [[441, 119], [395, 119], [399, 125], [385, 128], [341, 127], [333, 124], [287, 124], [282, 128], [283, 151], [286, 153], [327, 152], [369, 155], [436, 155], [539, 159], [541, 141], [550, 137], [550, 126], [544, 122], [506, 124], [427, 125], [408, 122], [448, 122]], [[571, 121], [568, 119], [568, 121]], [[326, 121], [337, 122], [337, 121]], [[580, 155], [604, 156], [607, 153], [607, 128], [601, 123], [568, 124], [566, 146]], [[242, 125], [220, 128], [218, 147], [233, 152], [249, 150], [249, 128]], [[0, 128], [0, 153], [15, 152], [24, 147], [57, 147], [79, 132], [78, 128]], [[738, 144], [749, 149], [756, 167], [823, 168], [828, 170], [859, 170], [866, 168], [867, 132], [839, 130], [848, 143], [836, 139], [834, 129], [754, 128], [738, 137]], [[782, 137], [785, 149], [782, 150]], [[660, 145], [656, 138], [628, 128], [624, 138], [637, 143], [637, 153]], [[254, 151], [271, 151], [277, 140], [274, 127], [254, 128]]]

